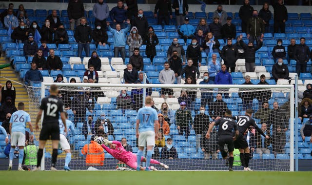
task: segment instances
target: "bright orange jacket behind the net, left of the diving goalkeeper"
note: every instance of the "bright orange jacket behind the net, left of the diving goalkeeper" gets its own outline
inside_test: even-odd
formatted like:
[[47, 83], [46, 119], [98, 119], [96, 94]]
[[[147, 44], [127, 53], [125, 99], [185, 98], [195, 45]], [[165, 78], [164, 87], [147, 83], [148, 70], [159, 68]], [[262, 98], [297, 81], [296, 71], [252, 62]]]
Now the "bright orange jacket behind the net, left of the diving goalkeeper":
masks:
[[97, 142], [91, 141], [81, 149], [81, 153], [86, 155], [87, 166], [102, 166], [104, 165], [104, 149]]

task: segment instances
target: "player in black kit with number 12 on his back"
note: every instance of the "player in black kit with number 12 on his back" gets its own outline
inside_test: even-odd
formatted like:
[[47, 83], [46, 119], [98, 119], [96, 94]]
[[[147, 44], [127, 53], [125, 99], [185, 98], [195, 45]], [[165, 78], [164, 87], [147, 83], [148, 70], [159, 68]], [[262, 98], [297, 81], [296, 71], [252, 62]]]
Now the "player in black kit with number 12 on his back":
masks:
[[67, 133], [66, 117], [64, 114], [63, 103], [58, 95], [58, 86], [53, 84], [50, 86], [50, 96], [43, 98], [39, 107], [39, 112], [36, 118], [36, 130], [39, 130], [39, 120], [43, 114], [42, 128], [39, 136], [39, 150], [37, 155], [37, 167], [34, 170], [40, 170], [41, 158], [43, 156], [43, 148], [47, 140], [52, 140], [52, 161], [51, 170], [56, 170], [55, 164], [58, 157], [59, 148], [59, 114], [64, 124], [64, 133]]

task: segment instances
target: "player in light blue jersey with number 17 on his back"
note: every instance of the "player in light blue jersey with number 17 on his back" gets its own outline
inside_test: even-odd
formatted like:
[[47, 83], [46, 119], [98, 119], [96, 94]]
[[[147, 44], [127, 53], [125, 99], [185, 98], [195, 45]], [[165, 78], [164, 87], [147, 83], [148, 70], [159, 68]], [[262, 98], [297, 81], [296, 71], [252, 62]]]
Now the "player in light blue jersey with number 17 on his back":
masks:
[[[146, 143], [146, 166], [150, 166], [155, 140], [158, 139], [158, 116], [154, 108], [151, 107], [153, 99], [145, 98], [145, 106], [137, 111], [136, 136], [138, 138], [137, 166], [140, 166], [141, 157]], [[140, 168], [137, 168], [139, 171]], [[149, 168], [145, 168], [150, 171]]]

